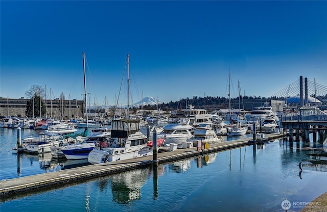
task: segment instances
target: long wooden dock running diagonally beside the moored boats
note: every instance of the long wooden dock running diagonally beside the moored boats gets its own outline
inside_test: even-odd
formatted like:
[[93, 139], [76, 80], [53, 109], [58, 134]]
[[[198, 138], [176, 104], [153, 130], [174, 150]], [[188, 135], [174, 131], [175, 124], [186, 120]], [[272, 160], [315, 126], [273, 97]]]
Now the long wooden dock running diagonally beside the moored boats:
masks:
[[[266, 139], [274, 140], [285, 137], [281, 133], [267, 134]], [[257, 140], [258, 142], [262, 142]], [[160, 147], [157, 154], [158, 164], [173, 162], [183, 158], [202, 156], [212, 152], [224, 151], [255, 144], [250, 138], [221, 142], [209, 145], [208, 149], [197, 150], [197, 147], [177, 149], [170, 151], [167, 147]], [[203, 146], [202, 146], [203, 148]], [[90, 178], [119, 173], [126, 170], [151, 166], [153, 156], [138, 157], [130, 160], [115, 161], [104, 164], [89, 165], [73, 169], [60, 170], [44, 174], [0, 181], [0, 198], [17, 195], [24, 192], [35, 191], [47, 187], [66, 185], [68, 182], [77, 182]]]

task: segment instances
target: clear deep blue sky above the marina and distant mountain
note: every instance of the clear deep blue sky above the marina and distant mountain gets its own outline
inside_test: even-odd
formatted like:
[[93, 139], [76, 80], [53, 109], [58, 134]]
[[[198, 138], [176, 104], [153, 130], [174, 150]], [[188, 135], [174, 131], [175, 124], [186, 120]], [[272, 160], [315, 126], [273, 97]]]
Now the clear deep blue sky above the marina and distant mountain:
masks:
[[[327, 1], [1, 1], [0, 96], [32, 85], [91, 104], [152, 96], [272, 96], [307, 77], [327, 85]], [[120, 104], [127, 103], [126, 73]]]

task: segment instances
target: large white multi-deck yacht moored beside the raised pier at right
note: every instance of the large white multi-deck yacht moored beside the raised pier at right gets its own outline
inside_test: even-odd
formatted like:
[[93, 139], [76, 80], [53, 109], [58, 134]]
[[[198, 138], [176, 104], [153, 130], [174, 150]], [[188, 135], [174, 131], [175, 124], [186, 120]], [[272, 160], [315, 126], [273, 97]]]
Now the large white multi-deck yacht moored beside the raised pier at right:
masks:
[[277, 122], [279, 119], [277, 114], [272, 111], [271, 106], [256, 107], [254, 110], [250, 111], [250, 114], [245, 115], [247, 121], [262, 121], [264, 122], [267, 116], [271, 116]]

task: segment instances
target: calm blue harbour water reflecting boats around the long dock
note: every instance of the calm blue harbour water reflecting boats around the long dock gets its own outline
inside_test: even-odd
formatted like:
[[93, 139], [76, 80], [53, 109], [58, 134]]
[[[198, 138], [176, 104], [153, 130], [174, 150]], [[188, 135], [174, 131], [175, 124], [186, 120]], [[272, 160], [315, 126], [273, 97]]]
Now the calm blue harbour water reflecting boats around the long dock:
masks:
[[[33, 133], [24, 129], [22, 138]], [[48, 163], [51, 156], [46, 155], [17, 157], [11, 150], [16, 135], [15, 129], [0, 129], [2, 180], [74, 166]], [[322, 146], [300, 142], [298, 147], [314, 145]], [[276, 140], [131, 170], [2, 199], [0, 211], [285, 211], [285, 199], [309, 202], [327, 192], [327, 167], [312, 165], [309, 152], [297, 150], [296, 142], [291, 147]]]

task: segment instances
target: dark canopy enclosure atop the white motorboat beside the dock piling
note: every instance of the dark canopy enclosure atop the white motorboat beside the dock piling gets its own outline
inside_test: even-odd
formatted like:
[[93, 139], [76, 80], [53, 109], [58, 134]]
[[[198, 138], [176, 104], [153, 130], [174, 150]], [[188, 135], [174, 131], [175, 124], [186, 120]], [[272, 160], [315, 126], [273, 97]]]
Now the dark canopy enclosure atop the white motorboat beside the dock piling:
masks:
[[139, 131], [139, 120], [116, 119], [111, 123], [111, 138], [127, 138]]

